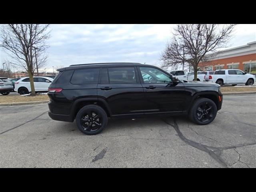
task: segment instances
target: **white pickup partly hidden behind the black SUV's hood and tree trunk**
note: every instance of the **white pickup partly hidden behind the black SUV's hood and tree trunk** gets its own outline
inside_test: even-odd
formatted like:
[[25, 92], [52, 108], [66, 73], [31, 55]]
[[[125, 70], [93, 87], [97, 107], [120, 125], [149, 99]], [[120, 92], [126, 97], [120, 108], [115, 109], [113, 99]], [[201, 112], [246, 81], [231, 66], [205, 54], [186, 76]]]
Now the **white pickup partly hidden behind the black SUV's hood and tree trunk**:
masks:
[[[186, 81], [193, 81], [194, 80], [194, 72], [191, 75], [188, 75], [184, 70], [174, 70], [174, 71], [167, 71], [168, 73], [172, 74], [173, 76], [178, 77], [179, 80], [186, 80]], [[198, 71], [197, 73], [197, 81], [204, 81], [204, 72]]]

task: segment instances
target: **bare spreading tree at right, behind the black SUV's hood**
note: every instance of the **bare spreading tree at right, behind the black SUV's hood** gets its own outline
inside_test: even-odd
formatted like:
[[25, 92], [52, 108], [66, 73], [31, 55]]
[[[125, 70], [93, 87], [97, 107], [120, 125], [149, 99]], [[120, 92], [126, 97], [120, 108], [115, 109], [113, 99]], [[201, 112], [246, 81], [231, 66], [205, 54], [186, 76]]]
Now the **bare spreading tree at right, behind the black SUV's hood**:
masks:
[[220, 48], [228, 47], [235, 24], [178, 24], [167, 43], [161, 60], [163, 66], [188, 64], [194, 68], [194, 79], [200, 62], [206, 62]]

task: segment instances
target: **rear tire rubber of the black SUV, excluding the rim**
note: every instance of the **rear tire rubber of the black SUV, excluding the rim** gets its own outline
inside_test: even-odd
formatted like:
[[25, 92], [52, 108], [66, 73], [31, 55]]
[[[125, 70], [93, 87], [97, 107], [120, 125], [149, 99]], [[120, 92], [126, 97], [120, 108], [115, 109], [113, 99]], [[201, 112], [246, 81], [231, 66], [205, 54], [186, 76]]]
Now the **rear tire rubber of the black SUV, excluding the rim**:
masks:
[[[80, 118], [88, 110], [94, 110], [95, 112], [99, 113], [102, 116], [102, 126], [94, 132], [88, 132], [88, 131], [84, 130], [84, 128], [82, 127], [82, 125], [80, 123]], [[101, 108], [100, 106], [97, 106], [97, 105], [86, 105], [83, 108], [81, 108], [76, 115], [76, 125], [77, 125], [78, 129], [83, 134], [86, 134], [86, 135], [99, 134], [100, 132], [102, 132], [102, 130], [106, 127], [107, 124], [108, 124], [108, 116], [107, 116], [106, 112], [104, 111], [103, 108]]]

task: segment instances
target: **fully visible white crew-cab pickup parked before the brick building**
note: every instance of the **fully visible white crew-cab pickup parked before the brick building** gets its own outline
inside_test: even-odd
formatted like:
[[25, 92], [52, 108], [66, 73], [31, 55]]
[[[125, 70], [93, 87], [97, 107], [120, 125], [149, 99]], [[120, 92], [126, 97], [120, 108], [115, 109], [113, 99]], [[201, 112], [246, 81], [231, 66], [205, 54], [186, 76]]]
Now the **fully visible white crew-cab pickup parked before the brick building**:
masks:
[[246, 84], [253, 85], [256, 81], [256, 77], [252, 74], [246, 74], [238, 69], [224, 69], [216, 70], [213, 75], [206, 75], [205, 81], [212, 81], [213, 83], [220, 84]]

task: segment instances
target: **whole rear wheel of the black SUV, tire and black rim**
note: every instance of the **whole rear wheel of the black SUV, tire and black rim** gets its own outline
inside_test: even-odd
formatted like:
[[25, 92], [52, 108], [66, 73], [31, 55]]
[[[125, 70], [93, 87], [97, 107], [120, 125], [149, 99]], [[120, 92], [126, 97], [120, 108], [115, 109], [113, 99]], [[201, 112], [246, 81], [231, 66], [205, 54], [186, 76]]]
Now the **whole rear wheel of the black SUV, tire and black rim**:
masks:
[[[98, 116], [99, 118], [95, 118]], [[76, 115], [78, 129], [86, 135], [96, 135], [108, 124], [108, 116], [98, 105], [86, 105]]]

